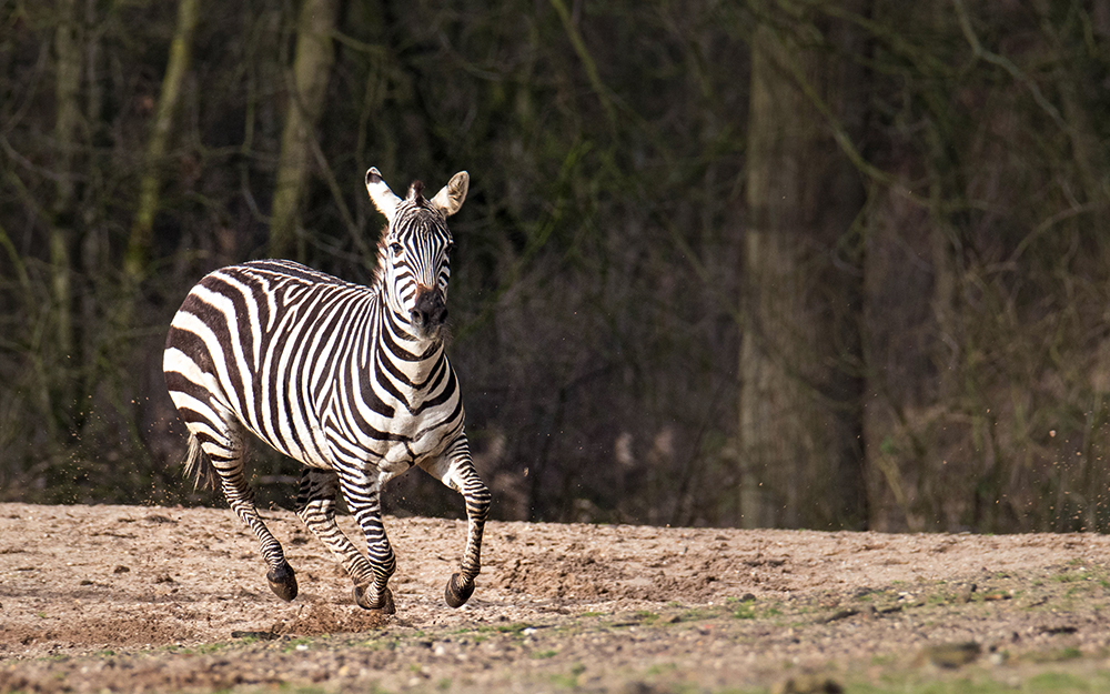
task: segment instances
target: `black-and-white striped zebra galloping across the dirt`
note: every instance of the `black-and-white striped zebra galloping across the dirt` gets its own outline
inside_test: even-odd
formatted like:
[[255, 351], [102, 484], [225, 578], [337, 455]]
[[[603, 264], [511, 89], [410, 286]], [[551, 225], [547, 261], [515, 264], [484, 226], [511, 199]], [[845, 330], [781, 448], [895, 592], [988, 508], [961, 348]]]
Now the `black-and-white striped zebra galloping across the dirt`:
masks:
[[[461, 607], [474, 592], [491, 497], [471, 459], [443, 326], [454, 245], [446, 218], [468, 187], [462, 171], [431, 200], [420, 181], [402, 200], [372, 168], [366, 190], [387, 225], [369, 286], [287, 260], [248, 262], [204, 276], [170, 323], [163, 371], [190, 432], [185, 474], [219, 481], [286, 602], [296, 577], [244, 477], [249, 434], [305, 465], [296, 514], [351, 576], [361, 607], [395, 612], [381, 490], [413, 465], [465, 500], [466, 547], [444, 597]], [[369, 556], [335, 524], [340, 493]]]

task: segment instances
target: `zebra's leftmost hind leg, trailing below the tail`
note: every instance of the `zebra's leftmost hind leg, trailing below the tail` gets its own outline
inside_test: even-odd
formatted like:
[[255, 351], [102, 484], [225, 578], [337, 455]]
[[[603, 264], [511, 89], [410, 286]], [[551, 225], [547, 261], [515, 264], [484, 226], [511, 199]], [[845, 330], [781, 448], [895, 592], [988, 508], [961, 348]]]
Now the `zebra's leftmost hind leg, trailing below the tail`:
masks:
[[[262, 557], [270, 566], [266, 572], [270, 590], [285, 602], [292, 601], [296, 597], [297, 592], [293, 567], [285, 561], [281, 543], [274, 539], [270, 529], [259, 516], [259, 511], [254, 506], [254, 490], [246, 483], [243, 474], [243, 463], [246, 459], [246, 432], [239, 426], [228, 426], [219, 437], [213, 436], [211, 431], [204, 433], [201, 449], [219, 475], [220, 486], [228, 504], [259, 539]], [[198, 474], [201, 472], [199, 471]]]

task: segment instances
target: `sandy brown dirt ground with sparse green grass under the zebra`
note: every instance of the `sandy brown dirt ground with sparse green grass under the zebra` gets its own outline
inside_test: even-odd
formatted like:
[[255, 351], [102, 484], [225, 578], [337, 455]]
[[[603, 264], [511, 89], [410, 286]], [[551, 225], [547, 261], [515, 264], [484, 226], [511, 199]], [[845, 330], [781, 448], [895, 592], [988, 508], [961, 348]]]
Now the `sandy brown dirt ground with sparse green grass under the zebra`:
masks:
[[387, 519], [384, 617], [264, 515], [292, 603], [226, 509], [0, 504], [0, 692], [1110, 690], [1102, 535], [491, 523], [451, 610], [465, 524]]

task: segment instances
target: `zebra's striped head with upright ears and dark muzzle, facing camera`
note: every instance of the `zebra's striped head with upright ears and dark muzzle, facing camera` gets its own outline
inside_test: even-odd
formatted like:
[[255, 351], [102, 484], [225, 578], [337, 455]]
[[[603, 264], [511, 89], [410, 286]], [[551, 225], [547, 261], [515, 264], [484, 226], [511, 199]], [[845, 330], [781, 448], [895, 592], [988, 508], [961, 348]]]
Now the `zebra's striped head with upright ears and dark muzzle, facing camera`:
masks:
[[427, 200], [424, 184], [413, 181], [401, 199], [377, 169], [366, 172], [370, 199], [389, 220], [379, 245], [385, 301], [417, 338], [437, 338], [447, 319], [447, 279], [454, 247], [447, 218], [463, 207], [470, 182], [470, 174], [460, 171]]

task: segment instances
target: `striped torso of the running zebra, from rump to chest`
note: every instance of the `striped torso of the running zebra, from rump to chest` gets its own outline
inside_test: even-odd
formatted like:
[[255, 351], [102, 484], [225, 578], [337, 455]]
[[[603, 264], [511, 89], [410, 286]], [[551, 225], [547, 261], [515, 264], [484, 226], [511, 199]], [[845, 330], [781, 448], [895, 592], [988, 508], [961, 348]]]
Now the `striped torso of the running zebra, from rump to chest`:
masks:
[[[412, 359], [406, 348], [413, 348], [391, 335], [402, 359], [383, 350], [375, 320], [380, 305], [372, 289], [291, 261], [223, 268], [200, 281], [171, 323], [189, 336], [168, 346], [165, 371], [201, 385], [202, 396], [213, 394], [212, 402], [238, 413], [251, 433], [310, 467], [370, 459], [382, 470], [404, 472], [442, 453], [450, 435], [462, 430], [463, 409], [442, 343]], [[204, 316], [213, 308], [219, 311], [213, 318], [226, 321], [226, 334], [218, 334], [212, 318]], [[353, 316], [366, 324], [342, 334]], [[248, 324], [241, 326], [243, 318]], [[238, 339], [230, 339], [232, 331]], [[180, 345], [193, 335], [220, 345], [209, 350], [211, 372]], [[370, 380], [375, 372], [392, 383]], [[289, 373], [300, 374], [292, 382], [301, 388], [289, 388], [281, 376]], [[190, 385], [180, 385], [179, 406], [200, 410]], [[215, 415], [209, 408], [205, 421]]]

